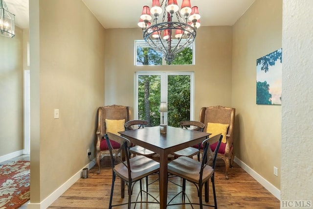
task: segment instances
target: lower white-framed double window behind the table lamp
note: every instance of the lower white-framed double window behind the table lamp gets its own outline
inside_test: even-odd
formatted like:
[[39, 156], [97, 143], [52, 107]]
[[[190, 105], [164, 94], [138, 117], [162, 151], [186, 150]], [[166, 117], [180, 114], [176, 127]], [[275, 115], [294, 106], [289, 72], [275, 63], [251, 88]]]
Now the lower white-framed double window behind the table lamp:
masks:
[[162, 122], [160, 102], [168, 104], [164, 123], [179, 127], [181, 120], [194, 119], [193, 72], [136, 72], [134, 118], [147, 120], [150, 126]]

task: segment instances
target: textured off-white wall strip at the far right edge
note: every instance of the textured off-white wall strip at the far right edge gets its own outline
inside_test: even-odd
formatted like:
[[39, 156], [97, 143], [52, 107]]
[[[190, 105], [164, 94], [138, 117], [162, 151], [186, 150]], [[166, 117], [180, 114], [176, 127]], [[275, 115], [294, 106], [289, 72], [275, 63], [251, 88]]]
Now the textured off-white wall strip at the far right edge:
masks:
[[[312, 0], [283, 1], [281, 199], [309, 200], [312, 201], [311, 208], [313, 207], [312, 14]], [[291, 204], [295, 206], [295, 202]]]

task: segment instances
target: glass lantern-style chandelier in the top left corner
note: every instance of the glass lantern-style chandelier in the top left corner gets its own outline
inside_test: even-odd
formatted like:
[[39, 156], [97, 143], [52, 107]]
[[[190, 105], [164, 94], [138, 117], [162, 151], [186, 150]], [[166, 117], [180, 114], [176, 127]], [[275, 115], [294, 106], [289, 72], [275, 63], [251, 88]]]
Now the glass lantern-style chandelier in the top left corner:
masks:
[[0, 0], [0, 36], [13, 38], [14, 33], [14, 14], [9, 12], [3, 0]]

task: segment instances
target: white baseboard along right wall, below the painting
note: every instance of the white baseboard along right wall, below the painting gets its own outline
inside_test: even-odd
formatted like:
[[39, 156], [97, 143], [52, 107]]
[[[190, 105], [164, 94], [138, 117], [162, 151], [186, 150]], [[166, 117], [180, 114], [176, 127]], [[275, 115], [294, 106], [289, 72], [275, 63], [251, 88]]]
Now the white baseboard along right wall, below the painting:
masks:
[[260, 176], [257, 172], [252, 170], [246, 163], [239, 160], [237, 157], [234, 158], [234, 162], [242, 167], [252, 178], [264, 186], [272, 195], [274, 195], [278, 200], [280, 200], [280, 190], [274, 185], [270, 184], [266, 179]]

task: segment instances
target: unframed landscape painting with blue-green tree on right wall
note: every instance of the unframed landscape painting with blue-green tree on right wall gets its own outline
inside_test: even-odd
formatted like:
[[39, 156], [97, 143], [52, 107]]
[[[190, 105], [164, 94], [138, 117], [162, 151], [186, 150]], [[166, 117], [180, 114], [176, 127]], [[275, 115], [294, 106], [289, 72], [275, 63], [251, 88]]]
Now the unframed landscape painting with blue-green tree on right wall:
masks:
[[256, 104], [282, 104], [282, 48], [256, 60]]

